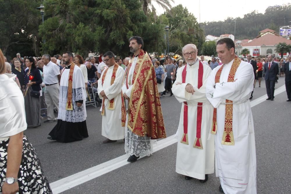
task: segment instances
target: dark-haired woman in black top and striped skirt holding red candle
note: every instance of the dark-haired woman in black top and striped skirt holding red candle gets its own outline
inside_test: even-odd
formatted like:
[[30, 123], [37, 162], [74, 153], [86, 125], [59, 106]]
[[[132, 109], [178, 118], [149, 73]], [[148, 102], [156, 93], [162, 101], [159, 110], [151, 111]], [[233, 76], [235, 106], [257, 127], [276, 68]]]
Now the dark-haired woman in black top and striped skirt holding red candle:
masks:
[[40, 94], [42, 78], [33, 57], [25, 59], [28, 69], [25, 71], [24, 83], [26, 85], [24, 102], [26, 112], [26, 122], [28, 126], [40, 126]]

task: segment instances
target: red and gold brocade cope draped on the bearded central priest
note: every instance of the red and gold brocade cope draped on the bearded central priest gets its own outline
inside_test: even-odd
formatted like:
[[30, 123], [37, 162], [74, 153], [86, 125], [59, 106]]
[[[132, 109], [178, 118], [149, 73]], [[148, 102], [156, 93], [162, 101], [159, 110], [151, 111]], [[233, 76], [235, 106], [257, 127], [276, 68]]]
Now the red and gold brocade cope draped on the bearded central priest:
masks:
[[[132, 61], [129, 63], [123, 79], [123, 83], [126, 81], [127, 89], [132, 85], [127, 127], [138, 136], [148, 136], [151, 139], [166, 138], [157, 79], [152, 61], [148, 54], [141, 50], [134, 68], [132, 81], [128, 77], [131, 66]], [[125, 108], [123, 98], [122, 106]]]

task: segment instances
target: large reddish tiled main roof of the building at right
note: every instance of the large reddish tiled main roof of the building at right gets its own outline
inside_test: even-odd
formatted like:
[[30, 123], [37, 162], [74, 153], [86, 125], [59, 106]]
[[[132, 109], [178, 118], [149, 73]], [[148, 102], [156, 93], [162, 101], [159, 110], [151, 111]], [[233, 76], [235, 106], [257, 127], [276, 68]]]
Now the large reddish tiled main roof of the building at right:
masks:
[[279, 42], [285, 42], [287, 45], [291, 45], [291, 40], [273, 34], [266, 34], [259, 38], [253, 39], [253, 41], [251, 42], [244, 44], [243, 47], [255, 47], [262, 45], [273, 46], [278, 44]]

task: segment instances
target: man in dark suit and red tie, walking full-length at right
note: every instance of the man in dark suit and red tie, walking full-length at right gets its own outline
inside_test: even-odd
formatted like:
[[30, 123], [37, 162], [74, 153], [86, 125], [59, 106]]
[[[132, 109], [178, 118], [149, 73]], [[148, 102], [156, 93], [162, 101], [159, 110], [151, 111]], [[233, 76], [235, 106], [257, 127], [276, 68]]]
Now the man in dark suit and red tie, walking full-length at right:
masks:
[[279, 72], [278, 63], [272, 61], [272, 55], [268, 55], [268, 62], [264, 64], [265, 83], [268, 98], [266, 100], [274, 100], [275, 81]]

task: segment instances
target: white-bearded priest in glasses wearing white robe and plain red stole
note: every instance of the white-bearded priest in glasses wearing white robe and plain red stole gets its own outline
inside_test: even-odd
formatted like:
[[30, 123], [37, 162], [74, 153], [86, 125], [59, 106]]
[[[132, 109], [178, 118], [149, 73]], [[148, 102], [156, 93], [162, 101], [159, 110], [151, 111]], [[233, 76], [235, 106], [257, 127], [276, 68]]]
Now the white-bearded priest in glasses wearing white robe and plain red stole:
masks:
[[214, 173], [214, 139], [210, 134], [212, 106], [205, 95], [211, 68], [197, 58], [196, 45], [182, 49], [187, 65], [179, 68], [172, 92], [182, 103], [178, 127], [176, 172], [205, 183]]

